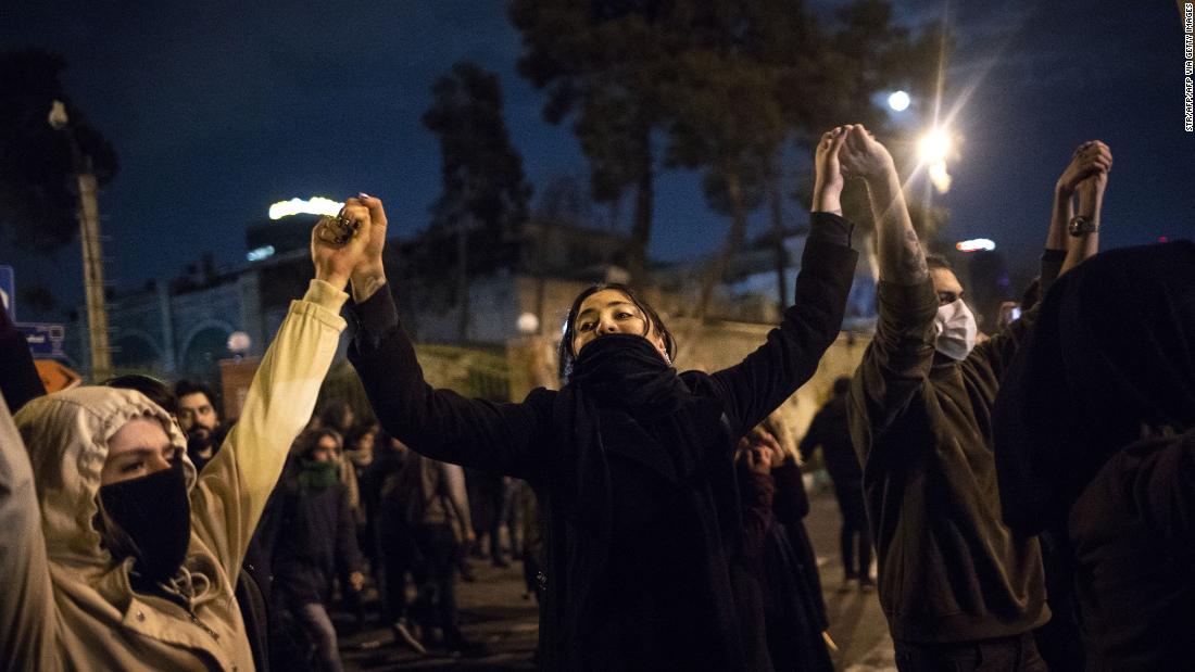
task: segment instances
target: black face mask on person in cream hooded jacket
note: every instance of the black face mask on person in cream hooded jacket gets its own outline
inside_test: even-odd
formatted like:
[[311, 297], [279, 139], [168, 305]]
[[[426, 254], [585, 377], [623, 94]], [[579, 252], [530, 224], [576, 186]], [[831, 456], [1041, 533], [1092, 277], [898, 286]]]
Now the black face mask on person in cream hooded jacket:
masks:
[[99, 498], [136, 545], [134, 584], [168, 581], [182, 567], [191, 538], [191, 501], [182, 461], [148, 476], [100, 486]]

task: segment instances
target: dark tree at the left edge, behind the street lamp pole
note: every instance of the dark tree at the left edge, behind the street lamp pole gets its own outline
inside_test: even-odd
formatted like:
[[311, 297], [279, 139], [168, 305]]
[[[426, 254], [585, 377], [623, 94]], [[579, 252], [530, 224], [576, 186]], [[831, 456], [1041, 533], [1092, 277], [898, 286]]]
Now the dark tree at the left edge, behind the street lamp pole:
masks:
[[[18, 245], [43, 252], [79, 235], [72, 138], [100, 185], [117, 172], [112, 146], [71, 104], [65, 69], [60, 56], [41, 49], [0, 53], [0, 224]], [[71, 119], [61, 131], [48, 122], [54, 100]]]

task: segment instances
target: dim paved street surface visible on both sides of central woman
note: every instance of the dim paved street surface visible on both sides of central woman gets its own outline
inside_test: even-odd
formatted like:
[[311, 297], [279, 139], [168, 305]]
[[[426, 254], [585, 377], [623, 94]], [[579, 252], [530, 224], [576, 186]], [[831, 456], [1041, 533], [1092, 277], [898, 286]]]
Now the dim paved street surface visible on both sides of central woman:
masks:
[[[858, 590], [840, 593], [842, 569], [838, 561], [838, 505], [829, 491], [810, 492], [813, 510], [805, 519], [817, 561], [831, 618], [831, 636], [838, 645], [834, 664], [846, 672], [894, 671], [893, 646], [876, 593]], [[478, 580], [461, 582], [458, 597], [462, 630], [482, 645], [474, 655], [451, 658], [418, 655], [394, 642], [388, 629], [378, 628], [341, 640], [348, 670], [534, 670], [535, 604], [523, 598], [522, 572], [515, 563], [498, 569], [473, 561]], [[338, 619], [338, 624], [341, 621]], [[343, 631], [343, 630], [342, 630]]]

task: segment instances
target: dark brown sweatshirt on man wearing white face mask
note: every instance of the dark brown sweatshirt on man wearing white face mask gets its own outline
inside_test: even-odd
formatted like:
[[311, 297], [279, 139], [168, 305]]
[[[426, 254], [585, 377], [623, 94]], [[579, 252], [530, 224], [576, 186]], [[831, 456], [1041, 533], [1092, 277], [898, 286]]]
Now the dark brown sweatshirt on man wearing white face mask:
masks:
[[854, 374], [851, 434], [893, 639], [958, 642], [1049, 619], [1041, 551], [1000, 520], [992, 407], [1029, 312], [962, 362], [936, 356], [926, 280], [880, 283], [880, 322]]

